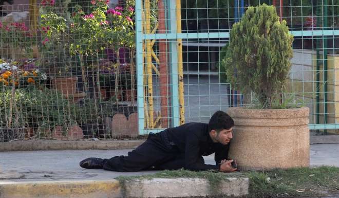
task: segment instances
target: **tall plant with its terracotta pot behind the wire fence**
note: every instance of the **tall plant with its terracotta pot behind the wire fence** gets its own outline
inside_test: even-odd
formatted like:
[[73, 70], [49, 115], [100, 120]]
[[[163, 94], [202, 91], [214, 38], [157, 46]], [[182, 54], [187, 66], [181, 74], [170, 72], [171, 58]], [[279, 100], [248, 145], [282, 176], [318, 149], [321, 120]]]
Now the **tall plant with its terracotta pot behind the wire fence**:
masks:
[[43, 2], [40, 9], [42, 32], [40, 66], [51, 77], [53, 88], [68, 96], [76, 93], [76, 76], [71, 74], [70, 55], [70, 1]]

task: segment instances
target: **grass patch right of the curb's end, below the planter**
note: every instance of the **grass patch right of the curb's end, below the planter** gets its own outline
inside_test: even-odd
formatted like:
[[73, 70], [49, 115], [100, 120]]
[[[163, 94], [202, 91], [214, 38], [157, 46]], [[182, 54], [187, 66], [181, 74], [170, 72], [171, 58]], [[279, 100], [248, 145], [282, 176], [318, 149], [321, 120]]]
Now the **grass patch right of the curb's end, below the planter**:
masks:
[[316, 196], [339, 191], [339, 168], [294, 168], [273, 171], [251, 171], [250, 198]]

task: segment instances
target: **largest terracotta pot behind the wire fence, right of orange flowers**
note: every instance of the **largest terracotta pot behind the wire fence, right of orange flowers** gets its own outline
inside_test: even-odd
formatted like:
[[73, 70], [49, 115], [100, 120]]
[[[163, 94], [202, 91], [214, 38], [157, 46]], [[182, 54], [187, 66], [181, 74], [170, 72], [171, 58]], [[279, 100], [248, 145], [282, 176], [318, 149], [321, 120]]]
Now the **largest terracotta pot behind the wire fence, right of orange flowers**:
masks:
[[58, 91], [61, 91], [63, 95], [72, 95], [77, 91], [78, 77], [65, 77], [65, 78], [52, 78], [52, 85]]

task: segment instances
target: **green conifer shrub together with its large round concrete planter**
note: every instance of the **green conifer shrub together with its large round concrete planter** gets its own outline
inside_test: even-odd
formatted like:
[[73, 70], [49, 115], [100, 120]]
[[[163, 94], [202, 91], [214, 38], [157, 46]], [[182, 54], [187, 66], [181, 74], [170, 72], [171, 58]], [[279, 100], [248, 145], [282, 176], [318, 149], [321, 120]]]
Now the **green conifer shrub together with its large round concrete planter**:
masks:
[[241, 170], [309, 166], [309, 109], [289, 108], [280, 100], [292, 42], [286, 21], [280, 23], [275, 8], [266, 4], [249, 7], [232, 28], [224, 58], [227, 80], [257, 101], [229, 109], [235, 121], [230, 157]]

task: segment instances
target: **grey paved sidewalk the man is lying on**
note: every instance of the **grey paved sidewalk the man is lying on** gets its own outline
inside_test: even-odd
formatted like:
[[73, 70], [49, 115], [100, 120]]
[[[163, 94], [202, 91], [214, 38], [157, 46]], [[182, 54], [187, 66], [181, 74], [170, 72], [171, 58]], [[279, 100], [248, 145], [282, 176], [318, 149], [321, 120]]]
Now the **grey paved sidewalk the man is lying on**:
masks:
[[[61, 181], [112, 179], [117, 176], [152, 174], [156, 171], [119, 173], [100, 169], [83, 169], [79, 161], [87, 157], [110, 158], [126, 155], [130, 150], [62, 150], [0, 152], [0, 169], [13, 176], [7, 181]], [[310, 164], [339, 167], [339, 144], [311, 145]], [[215, 164], [214, 156], [205, 157]], [[4, 181], [4, 178], [0, 178]]]

